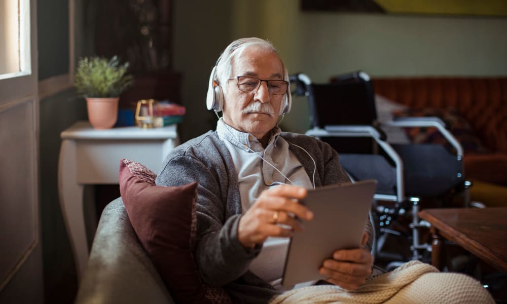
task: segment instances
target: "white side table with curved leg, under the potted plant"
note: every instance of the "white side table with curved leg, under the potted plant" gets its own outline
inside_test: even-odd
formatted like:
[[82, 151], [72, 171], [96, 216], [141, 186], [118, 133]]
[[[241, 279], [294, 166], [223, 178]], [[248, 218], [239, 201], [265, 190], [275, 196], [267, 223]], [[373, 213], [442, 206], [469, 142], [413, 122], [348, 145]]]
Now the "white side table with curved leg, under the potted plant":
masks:
[[83, 212], [84, 185], [118, 184], [122, 158], [139, 162], [158, 173], [166, 155], [179, 144], [179, 138], [175, 125], [155, 129], [94, 130], [87, 121], [75, 123], [60, 136], [63, 141], [58, 163], [58, 192], [80, 281], [89, 254]]

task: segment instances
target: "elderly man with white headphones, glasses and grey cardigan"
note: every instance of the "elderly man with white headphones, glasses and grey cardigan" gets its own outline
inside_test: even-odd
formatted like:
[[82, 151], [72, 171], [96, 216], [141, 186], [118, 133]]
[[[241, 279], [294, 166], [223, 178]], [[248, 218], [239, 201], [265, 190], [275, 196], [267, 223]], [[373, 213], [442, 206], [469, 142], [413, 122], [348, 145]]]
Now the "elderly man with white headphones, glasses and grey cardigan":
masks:
[[[216, 131], [174, 149], [157, 184], [199, 182], [195, 258], [202, 280], [224, 287], [235, 302], [266, 302], [281, 293], [287, 237], [303, 229], [291, 215], [313, 216], [298, 200], [307, 189], [349, 179], [328, 144], [277, 126], [291, 93], [269, 42], [240, 39], [225, 49], [211, 72], [207, 106], [223, 112]], [[372, 273], [371, 241], [366, 229], [365, 248], [336, 251], [320, 274], [358, 288]]]

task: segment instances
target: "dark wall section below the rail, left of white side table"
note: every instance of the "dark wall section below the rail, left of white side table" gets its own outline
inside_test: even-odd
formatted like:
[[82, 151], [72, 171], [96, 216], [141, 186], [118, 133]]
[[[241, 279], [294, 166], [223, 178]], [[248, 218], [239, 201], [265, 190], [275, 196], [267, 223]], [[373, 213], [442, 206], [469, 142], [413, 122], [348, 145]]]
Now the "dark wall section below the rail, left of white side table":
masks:
[[46, 303], [73, 302], [77, 279], [58, 198], [60, 132], [86, 119], [85, 102], [73, 89], [40, 101], [40, 202]]

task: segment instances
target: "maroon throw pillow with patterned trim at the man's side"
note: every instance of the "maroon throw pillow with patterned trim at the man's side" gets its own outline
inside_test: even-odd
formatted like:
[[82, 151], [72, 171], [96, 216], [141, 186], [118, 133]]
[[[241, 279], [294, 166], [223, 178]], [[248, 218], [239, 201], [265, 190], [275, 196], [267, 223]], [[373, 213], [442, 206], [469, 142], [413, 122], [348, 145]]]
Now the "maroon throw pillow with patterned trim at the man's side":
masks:
[[119, 181], [132, 227], [178, 303], [229, 303], [222, 288], [202, 283], [193, 257], [196, 239], [197, 182], [156, 186], [156, 174], [122, 159]]

